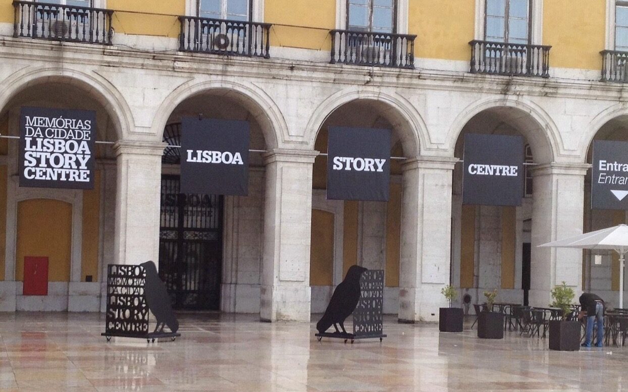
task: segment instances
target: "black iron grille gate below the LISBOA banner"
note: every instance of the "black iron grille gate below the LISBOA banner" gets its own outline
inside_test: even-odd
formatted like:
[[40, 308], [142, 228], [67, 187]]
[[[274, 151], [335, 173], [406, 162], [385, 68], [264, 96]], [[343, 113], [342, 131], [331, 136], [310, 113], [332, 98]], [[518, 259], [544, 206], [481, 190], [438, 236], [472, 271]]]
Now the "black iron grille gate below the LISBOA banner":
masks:
[[179, 190], [161, 177], [159, 274], [175, 309], [219, 310], [223, 198]]

